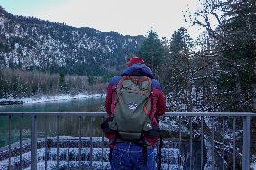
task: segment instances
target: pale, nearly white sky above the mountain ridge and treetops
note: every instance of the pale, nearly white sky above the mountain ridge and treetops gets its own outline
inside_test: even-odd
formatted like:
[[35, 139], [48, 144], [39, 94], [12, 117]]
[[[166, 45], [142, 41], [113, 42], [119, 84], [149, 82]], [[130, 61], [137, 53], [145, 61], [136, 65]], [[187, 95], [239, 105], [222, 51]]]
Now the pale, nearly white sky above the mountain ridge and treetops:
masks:
[[75, 27], [115, 31], [123, 35], [146, 35], [151, 29], [159, 37], [171, 38], [184, 26], [192, 38], [202, 30], [191, 28], [182, 11], [195, 9], [197, 0], [0, 0], [15, 15], [34, 16]]

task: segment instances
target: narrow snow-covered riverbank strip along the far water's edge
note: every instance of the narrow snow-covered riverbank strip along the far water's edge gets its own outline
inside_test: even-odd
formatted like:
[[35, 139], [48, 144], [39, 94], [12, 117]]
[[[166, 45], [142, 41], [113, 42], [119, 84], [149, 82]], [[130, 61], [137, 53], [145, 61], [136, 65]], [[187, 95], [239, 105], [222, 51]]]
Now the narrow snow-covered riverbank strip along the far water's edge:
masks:
[[100, 98], [105, 97], [105, 94], [87, 94], [79, 93], [76, 95], [71, 94], [60, 94], [60, 95], [45, 95], [40, 97], [28, 97], [28, 98], [4, 98], [0, 99], [0, 105], [14, 105], [14, 104], [24, 104], [24, 103], [46, 103], [51, 101], [61, 101], [61, 100], [72, 100], [81, 98]]

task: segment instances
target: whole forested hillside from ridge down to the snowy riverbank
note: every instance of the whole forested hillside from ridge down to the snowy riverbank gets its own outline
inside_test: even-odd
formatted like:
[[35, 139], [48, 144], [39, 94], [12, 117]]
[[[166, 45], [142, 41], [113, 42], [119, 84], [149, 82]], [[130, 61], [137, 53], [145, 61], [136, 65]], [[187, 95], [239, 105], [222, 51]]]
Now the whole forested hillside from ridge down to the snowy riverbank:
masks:
[[105, 89], [102, 82], [123, 69], [143, 40], [14, 16], [0, 6], [0, 98]]

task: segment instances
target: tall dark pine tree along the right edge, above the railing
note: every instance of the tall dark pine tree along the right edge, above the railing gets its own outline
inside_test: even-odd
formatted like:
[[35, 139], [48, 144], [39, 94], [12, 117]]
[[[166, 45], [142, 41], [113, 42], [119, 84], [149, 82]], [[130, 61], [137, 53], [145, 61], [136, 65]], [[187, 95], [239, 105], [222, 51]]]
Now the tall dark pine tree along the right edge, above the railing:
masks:
[[[254, 0], [230, 0], [224, 13], [227, 22], [224, 34], [232, 47], [224, 49], [224, 58], [233, 61], [233, 77], [235, 85], [233, 94], [233, 110], [235, 112], [256, 111], [256, 5]], [[221, 48], [220, 48], [221, 49]], [[223, 49], [223, 48], [222, 48]], [[228, 63], [227, 63], [228, 64]], [[224, 66], [227, 66], [225, 64]], [[254, 91], [253, 91], [254, 88]], [[253, 104], [251, 104], [253, 103]], [[251, 107], [253, 106], [254, 107]]]

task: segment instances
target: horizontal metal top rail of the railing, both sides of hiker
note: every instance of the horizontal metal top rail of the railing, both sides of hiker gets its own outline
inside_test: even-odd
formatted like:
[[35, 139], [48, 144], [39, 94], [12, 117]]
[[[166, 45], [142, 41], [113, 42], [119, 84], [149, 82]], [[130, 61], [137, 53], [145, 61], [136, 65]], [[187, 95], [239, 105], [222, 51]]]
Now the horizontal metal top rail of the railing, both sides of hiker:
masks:
[[[104, 116], [105, 112], [0, 112], [0, 116], [24, 115], [24, 116]], [[252, 112], [166, 112], [164, 116], [214, 116], [214, 117], [240, 117], [252, 116], [256, 117], [256, 113]]]

